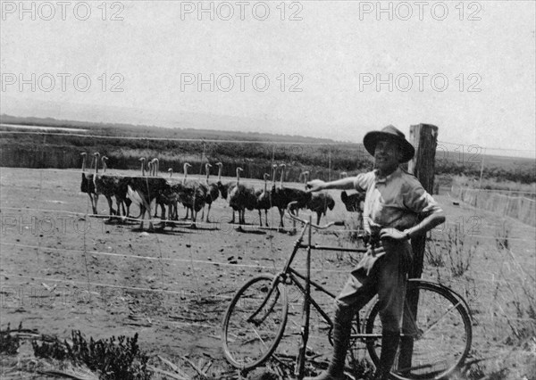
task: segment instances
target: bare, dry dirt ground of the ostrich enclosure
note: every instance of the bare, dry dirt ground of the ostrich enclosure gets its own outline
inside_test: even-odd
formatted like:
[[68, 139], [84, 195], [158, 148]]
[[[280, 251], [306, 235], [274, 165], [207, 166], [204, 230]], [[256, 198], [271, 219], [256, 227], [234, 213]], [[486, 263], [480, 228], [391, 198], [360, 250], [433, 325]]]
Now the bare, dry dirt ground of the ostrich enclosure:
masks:
[[[253, 226], [237, 231], [227, 223], [231, 211], [221, 199], [213, 204], [213, 223], [199, 224], [197, 229], [167, 227], [148, 234], [135, 230], [134, 224], [106, 224], [105, 219], [84, 215], [90, 205], [88, 196], [80, 193], [80, 173], [75, 171], [2, 168], [1, 176], [2, 327], [22, 322], [24, 327], [61, 338], [68, 337], [71, 329], [95, 338], [138, 332], [142, 349], [171, 359], [190, 375], [195, 372], [183, 355], [196, 363], [213, 360], [211, 372], [216, 377], [230, 369], [219, 340], [230, 296], [257, 273], [281, 268], [296, 239]], [[337, 205], [327, 219], [348, 218], [338, 192], [333, 195]], [[488, 212], [454, 206], [447, 195], [437, 198], [451, 223], [465, 220], [465, 231], [473, 227], [469, 218], [474, 216], [479, 218], [478, 235], [493, 236], [502, 222]], [[104, 197], [99, 213], [107, 213]], [[257, 218], [256, 212], [247, 213], [247, 223], [256, 224]], [[271, 211], [269, 219], [271, 226], [277, 226], [277, 211]], [[482, 238], [470, 276], [443, 277], [448, 285], [465, 292], [478, 310], [477, 318], [482, 318], [473, 331], [476, 358], [515, 349], [504, 342], [508, 333], [504, 318], [487, 317], [497, 315], [490, 306], [498, 300], [491, 288], [501, 278], [512, 278], [507, 277], [504, 263], [513, 271], [515, 263], [519, 264], [532, 276], [534, 286], [536, 249], [534, 243], [522, 240], [533, 239], [534, 228], [512, 219], [508, 224], [515, 261], [498, 258], [492, 253], [495, 241]], [[339, 230], [336, 235], [316, 235], [315, 241], [351, 246], [345, 235]], [[356, 257], [323, 252], [314, 257], [313, 266], [318, 269], [314, 276], [336, 293], [352, 260]], [[426, 276], [436, 279], [437, 273], [431, 268]], [[529, 285], [530, 278], [525, 278]], [[329, 308], [330, 301], [324, 301]], [[505, 304], [503, 310], [509, 313], [510, 307]], [[293, 315], [282, 350], [295, 351], [297, 340], [292, 333], [296, 328]], [[490, 333], [495, 335], [490, 337]], [[314, 350], [326, 351], [325, 336], [313, 335]], [[490, 368], [493, 365], [490, 362]]]

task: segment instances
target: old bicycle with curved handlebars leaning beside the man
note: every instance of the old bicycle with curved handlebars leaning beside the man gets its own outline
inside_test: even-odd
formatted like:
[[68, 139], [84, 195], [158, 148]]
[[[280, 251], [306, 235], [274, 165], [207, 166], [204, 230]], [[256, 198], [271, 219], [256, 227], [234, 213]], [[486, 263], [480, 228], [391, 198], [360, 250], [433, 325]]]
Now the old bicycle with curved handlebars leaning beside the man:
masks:
[[[289, 208], [290, 204], [288, 212]], [[336, 297], [310, 279], [311, 251], [366, 252], [366, 249], [312, 244], [313, 228], [322, 230], [341, 223], [331, 222], [318, 226], [314, 225], [311, 219], [308, 221], [299, 219], [291, 212], [289, 216], [304, 224], [289, 259], [281, 272], [254, 277], [234, 295], [223, 318], [222, 344], [226, 359], [235, 368], [247, 371], [263, 364], [272, 356], [284, 334], [289, 313], [287, 287], [294, 285], [305, 299], [301, 344], [295, 369], [295, 375], [302, 378], [306, 360], [310, 305], [329, 325], [330, 343], [333, 326], [331, 318], [311, 296], [311, 286], [333, 299]], [[307, 231], [308, 242], [304, 244]], [[305, 275], [291, 267], [300, 249], [307, 251]], [[302, 284], [304, 281], [305, 284]], [[377, 298], [369, 302], [369, 305], [371, 306], [363, 322], [359, 320], [359, 313], [356, 313], [349, 355], [355, 363], [353, 349], [358, 342], [363, 342], [373, 364], [378, 366], [381, 352], [380, 306]], [[398, 380], [435, 380], [451, 375], [463, 364], [471, 347], [470, 316], [470, 309], [464, 298], [447, 286], [423, 279], [409, 279], [406, 285], [400, 344], [390, 376]]]

